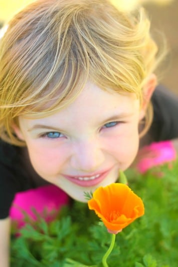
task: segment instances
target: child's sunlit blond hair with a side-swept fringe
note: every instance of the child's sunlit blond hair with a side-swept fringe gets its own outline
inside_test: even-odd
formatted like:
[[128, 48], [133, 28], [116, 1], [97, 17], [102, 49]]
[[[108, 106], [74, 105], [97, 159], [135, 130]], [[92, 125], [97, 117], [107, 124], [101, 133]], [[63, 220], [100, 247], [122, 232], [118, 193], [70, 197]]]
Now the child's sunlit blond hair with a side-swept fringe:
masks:
[[[89, 80], [142, 100], [157, 66], [144, 10], [124, 13], [107, 0], [39, 0], [10, 22], [0, 46], [0, 136], [18, 116], [48, 116], [70, 104]], [[151, 119], [149, 119], [149, 122]]]

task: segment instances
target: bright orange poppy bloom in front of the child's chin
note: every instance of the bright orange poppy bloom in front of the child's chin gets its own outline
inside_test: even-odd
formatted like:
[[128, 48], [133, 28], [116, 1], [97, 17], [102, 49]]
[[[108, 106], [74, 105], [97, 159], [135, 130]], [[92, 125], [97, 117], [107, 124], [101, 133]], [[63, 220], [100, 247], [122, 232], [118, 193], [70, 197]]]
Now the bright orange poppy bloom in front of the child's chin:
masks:
[[121, 231], [144, 214], [141, 198], [122, 183], [97, 188], [88, 201], [88, 207], [95, 211], [111, 233]]

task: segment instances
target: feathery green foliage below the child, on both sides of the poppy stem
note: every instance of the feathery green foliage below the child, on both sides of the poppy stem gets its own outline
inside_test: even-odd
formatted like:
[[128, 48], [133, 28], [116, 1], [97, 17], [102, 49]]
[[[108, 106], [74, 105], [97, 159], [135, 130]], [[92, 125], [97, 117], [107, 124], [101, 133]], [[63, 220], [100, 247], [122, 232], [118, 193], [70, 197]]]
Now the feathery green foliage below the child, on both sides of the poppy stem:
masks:
[[[178, 162], [141, 175], [126, 172], [129, 186], [145, 205], [145, 215], [118, 233], [110, 267], [176, 267], [178, 262]], [[161, 177], [161, 178], [160, 178]], [[74, 201], [58, 218], [39, 218], [21, 235], [12, 234], [12, 267], [102, 266], [111, 234], [87, 204]]]

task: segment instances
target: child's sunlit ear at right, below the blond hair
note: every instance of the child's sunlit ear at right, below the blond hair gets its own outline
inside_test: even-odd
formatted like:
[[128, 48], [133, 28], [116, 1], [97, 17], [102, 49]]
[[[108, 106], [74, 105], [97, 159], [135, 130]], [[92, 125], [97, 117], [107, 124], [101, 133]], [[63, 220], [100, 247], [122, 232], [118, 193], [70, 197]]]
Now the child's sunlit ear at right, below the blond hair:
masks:
[[146, 82], [143, 86], [143, 102], [140, 108], [140, 120], [144, 118], [146, 109], [150, 102], [151, 96], [156, 88], [157, 78], [155, 74], [150, 74], [146, 79]]

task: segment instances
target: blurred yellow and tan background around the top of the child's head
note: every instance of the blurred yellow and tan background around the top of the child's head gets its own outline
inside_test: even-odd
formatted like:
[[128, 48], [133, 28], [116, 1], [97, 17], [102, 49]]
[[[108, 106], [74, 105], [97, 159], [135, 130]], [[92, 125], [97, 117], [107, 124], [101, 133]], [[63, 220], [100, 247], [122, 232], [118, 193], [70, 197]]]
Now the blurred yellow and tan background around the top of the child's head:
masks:
[[[34, 0], [0, 0], [0, 24]], [[50, 0], [49, 0], [50, 1]], [[177, 0], [110, 0], [122, 9], [143, 4], [152, 22], [153, 31], [163, 32], [169, 55], [161, 83], [178, 95], [178, 1]]]

